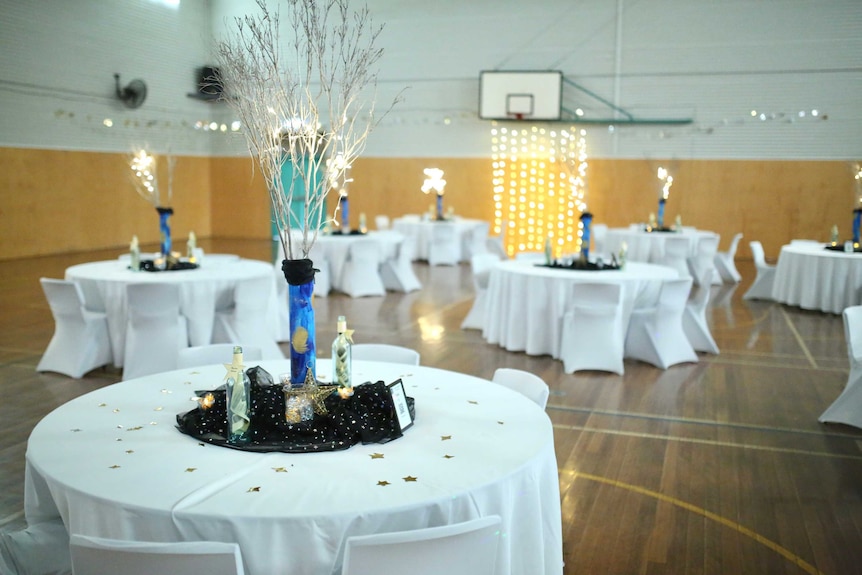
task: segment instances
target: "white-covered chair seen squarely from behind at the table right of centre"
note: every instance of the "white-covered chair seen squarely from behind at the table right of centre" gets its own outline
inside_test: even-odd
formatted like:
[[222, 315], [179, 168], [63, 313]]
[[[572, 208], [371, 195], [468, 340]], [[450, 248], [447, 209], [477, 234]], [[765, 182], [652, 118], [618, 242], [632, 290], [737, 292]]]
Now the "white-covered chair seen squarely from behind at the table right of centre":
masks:
[[619, 284], [572, 284], [572, 304], [560, 330], [563, 371], [609, 371], [623, 375], [623, 292]]

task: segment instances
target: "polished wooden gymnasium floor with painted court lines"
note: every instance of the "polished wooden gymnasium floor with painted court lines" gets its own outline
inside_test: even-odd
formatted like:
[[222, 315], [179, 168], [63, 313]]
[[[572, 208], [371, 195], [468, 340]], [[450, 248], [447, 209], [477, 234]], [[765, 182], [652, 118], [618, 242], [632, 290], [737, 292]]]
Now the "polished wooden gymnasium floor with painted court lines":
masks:
[[[272, 253], [265, 241], [201, 244]], [[0, 262], [2, 529], [24, 526], [24, 453], [36, 422], [119, 379], [113, 368], [81, 380], [36, 373], [53, 333], [38, 278], [117, 253]], [[484, 378], [513, 367], [548, 382], [566, 574], [862, 573], [862, 430], [817, 422], [847, 378], [841, 317], [743, 301], [754, 267], [738, 265], [740, 285], [713, 288], [721, 354], [667, 371], [627, 360], [624, 377], [566, 375], [559, 361], [462, 331], [466, 265], [417, 264], [425, 287], [409, 295], [318, 298], [318, 345], [328, 349], [344, 314], [355, 341], [414, 347], [424, 365]]]

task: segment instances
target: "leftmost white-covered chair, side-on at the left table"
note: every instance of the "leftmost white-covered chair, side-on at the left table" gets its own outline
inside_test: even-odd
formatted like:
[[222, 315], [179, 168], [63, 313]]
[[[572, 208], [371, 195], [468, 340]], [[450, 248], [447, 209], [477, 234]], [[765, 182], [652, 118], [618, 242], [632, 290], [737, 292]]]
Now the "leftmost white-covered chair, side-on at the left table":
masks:
[[41, 278], [42, 291], [54, 316], [54, 335], [36, 371], [53, 371], [76, 379], [114, 359], [107, 316], [84, 306], [74, 282]]

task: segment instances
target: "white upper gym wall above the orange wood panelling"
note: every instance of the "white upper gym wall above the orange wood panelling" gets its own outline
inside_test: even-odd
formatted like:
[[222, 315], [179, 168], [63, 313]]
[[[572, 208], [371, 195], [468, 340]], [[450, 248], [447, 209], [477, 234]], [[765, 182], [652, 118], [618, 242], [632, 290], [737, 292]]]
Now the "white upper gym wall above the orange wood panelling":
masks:
[[[237, 134], [195, 127], [229, 126], [225, 104], [186, 94], [195, 89], [195, 69], [212, 63], [212, 39], [256, 6], [178, 4], [0, 0], [0, 145], [247, 153]], [[369, 137], [367, 156], [489, 156], [490, 122], [478, 119], [479, 72], [561, 70], [571, 83], [564, 107], [601, 122], [585, 126], [593, 157], [862, 158], [859, 0], [368, 6], [385, 24], [378, 107], [406, 91]], [[124, 84], [147, 82], [141, 108], [126, 109], [114, 97], [115, 72]], [[619, 110], [635, 123], [620, 122]], [[106, 118], [113, 127], [103, 125]], [[662, 118], [692, 123], [636, 123]]]

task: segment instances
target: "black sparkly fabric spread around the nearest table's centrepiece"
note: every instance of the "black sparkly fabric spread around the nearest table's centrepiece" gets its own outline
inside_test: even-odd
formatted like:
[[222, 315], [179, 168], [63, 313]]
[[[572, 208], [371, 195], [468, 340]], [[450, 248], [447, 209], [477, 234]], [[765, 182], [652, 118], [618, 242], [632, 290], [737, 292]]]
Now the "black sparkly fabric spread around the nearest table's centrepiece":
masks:
[[[401, 426], [387, 385], [368, 382], [353, 388], [353, 396], [342, 399], [336, 386], [325, 400], [327, 413], [291, 424], [285, 420], [284, 390], [261, 367], [246, 372], [251, 381], [251, 441], [231, 445], [226, 440], [225, 390], [199, 391], [202, 397], [212, 393], [215, 402], [208, 409], [195, 408], [177, 415], [177, 428], [201, 441], [243, 451], [308, 453], [338, 451], [357, 443], [387, 443], [401, 437]], [[324, 386], [321, 386], [324, 388]], [[407, 398], [411, 415], [414, 400]]]

